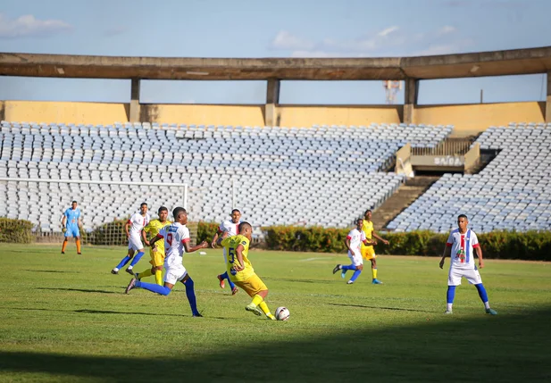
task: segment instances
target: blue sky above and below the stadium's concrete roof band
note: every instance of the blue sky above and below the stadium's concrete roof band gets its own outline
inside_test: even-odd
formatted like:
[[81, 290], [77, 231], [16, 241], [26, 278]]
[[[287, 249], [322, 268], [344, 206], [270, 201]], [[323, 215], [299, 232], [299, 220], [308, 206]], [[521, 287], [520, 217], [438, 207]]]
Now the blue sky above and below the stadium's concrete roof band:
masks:
[[[0, 0], [0, 53], [396, 57], [551, 46], [548, 0]], [[546, 75], [424, 80], [419, 104], [542, 101]], [[2, 100], [128, 103], [129, 80], [0, 77]], [[264, 104], [264, 81], [144, 80], [140, 102]], [[404, 92], [396, 103], [403, 104]], [[385, 104], [381, 81], [282, 81], [280, 104]]]

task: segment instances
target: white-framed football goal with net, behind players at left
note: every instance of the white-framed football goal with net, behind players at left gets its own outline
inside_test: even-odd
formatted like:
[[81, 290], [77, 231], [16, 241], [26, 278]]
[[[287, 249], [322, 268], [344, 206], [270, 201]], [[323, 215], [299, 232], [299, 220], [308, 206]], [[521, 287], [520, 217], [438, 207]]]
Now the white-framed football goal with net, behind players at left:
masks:
[[[190, 198], [190, 190], [197, 195]], [[182, 206], [188, 211], [188, 228], [196, 241], [200, 218], [200, 190], [187, 183], [131, 182], [109, 179], [25, 179], [0, 178], [0, 216], [30, 221], [38, 242], [63, 239], [62, 217], [71, 201], [82, 212], [83, 242], [93, 245], [123, 246], [128, 239], [124, 224], [145, 202], [152, 219], [158, 208]]]

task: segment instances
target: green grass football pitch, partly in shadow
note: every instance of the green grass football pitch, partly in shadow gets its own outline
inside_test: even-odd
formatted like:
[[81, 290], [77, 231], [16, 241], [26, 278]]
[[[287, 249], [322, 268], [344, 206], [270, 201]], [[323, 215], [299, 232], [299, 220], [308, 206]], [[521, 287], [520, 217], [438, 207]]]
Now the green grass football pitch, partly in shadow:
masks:
[[[481, 271], [497, 316], [463, 279], [447, 316], [447, 266], [438, 258], [379, 257], [346, 285], [346, 254], [254, 251], [271, 311], [218, 286], [221, 250], [186, 254], [199, 311], [185, 289], [124, 294], [110, 274], [122, 247], [0, 244], [0, 381], [550, 381], [551, 263], [486, 260]], [[146, 269], [148, 254], [135, 270]], [[351, 274], [349, 274], [351, 275]], [[153, 278], [149, 281], [154, 282]]]

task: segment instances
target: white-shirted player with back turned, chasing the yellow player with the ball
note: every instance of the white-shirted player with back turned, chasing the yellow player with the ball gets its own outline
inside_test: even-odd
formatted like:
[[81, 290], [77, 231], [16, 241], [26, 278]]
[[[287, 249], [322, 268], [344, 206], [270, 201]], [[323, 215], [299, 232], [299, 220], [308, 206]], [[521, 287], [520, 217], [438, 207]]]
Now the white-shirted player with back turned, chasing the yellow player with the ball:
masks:
[[171, 294], [172, 287], [174, 287], [176, 282], [180, 281], [186, 287], [186, 296], [188, 296], [192, 315], [194, 317], [202, 317], [203, 315], [197, 311], [193, 279], [189, 277], [188, 271], [182, 262], [184, 253], [193, 253], [196, 250], [204, 249], [208, 247], [208, 243], [203, 241], [197, 246], [189, 246], [189, 229], [186, 227], [188, 212], [183, 207], [177, 207], [172, 211], [172, 215], [174, 216], [174, 223], [161, 229], [159, 234], [149, 241], [149, 244], [154, 246], [156, 241], [164, 240], [164, 269], [166, 271], [166, 274], [164, 274], [164, 286], [159, 286], [156, 283], [141, 282], [133, 278], [130, 280], [129, 286], [126, 287], [126, 294], [129, 294], [132, 288], [139, 287], [163, 296], [168, 296]]

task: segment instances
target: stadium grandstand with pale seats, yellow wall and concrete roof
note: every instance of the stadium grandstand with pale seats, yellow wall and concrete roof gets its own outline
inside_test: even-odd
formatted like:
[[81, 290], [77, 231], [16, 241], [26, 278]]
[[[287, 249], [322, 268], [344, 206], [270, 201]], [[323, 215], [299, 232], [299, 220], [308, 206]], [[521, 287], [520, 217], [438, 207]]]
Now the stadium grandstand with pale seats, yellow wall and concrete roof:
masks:
[[[551, 47], [380, 59], [0, 54], [5, 76], [131, 79], [129, 104], [0, 102], [0, 216], [59, 233], [76, 199], [92, 231], [145, 200], [185, 204], [194, 221], [239, 207], [256, 226], [341, 228], [392, 205], [388, 230], [446, 232], [465, 209], [481, 232], [551, 229], [550, 71]], [[424, 79], [527, 73], [547, 73], [547, 102], [417, 105]], [[140, 104], [141, 79], [266, 80], [266, 103]], [[281, 105], [280, 82], [296, 79], [403, 80], [405, 104]], [[441, 178], [397, 202], [426, 173]]]

